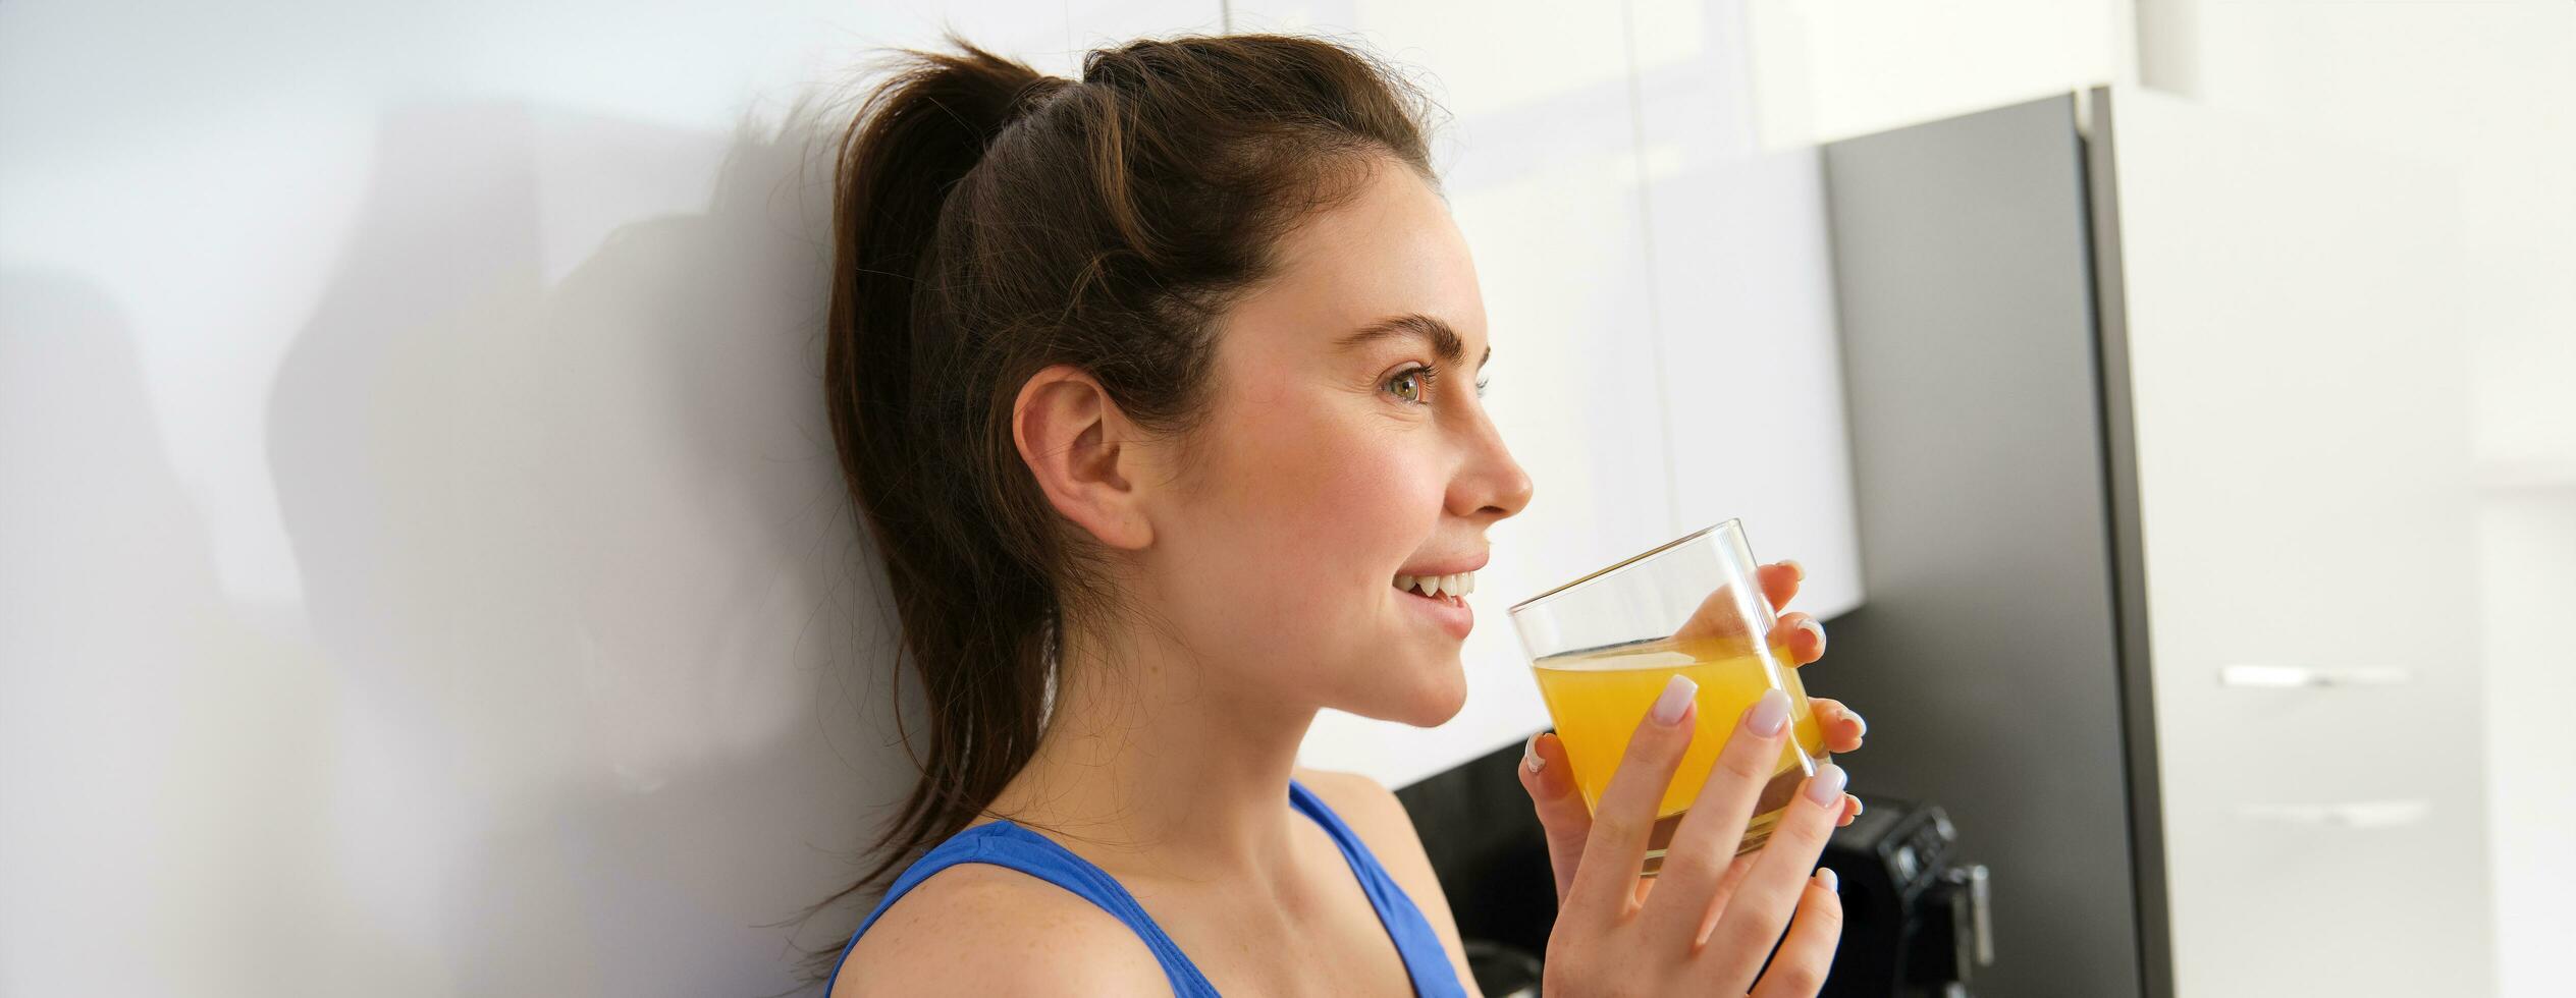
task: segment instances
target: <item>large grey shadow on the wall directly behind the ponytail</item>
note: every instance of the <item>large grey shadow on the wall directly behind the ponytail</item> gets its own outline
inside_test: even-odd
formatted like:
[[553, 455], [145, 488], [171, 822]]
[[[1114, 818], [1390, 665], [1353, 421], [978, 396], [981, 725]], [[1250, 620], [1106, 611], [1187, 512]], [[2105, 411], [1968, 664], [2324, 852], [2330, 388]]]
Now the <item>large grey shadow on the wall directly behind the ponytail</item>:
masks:
[[[778, 993], [858, 918], [765, 929], [914, 774], [819, 396], [832, 131], [788, 121], [384, 118], [268, 455], [337, 671], [307, 862], [422, 993]], [[582, 211], [708, 172], [549, 280]]]

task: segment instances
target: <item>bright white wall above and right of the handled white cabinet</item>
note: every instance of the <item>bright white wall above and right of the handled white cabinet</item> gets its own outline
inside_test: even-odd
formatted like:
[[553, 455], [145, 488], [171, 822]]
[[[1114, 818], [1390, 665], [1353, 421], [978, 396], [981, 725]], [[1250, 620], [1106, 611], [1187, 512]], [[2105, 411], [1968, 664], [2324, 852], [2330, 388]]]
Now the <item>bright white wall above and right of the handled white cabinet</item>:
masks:
[[[2476, 651], [2496, 995], [2566, 993], [2576, 939], [2576, 3], [2141, 0], [2177, 87], [2460, 175], [2478, 455]], [[2141, 44], [2148, 39], [2141, 36]], [[2156, 82], [2154, 77], [2148, 82]]]

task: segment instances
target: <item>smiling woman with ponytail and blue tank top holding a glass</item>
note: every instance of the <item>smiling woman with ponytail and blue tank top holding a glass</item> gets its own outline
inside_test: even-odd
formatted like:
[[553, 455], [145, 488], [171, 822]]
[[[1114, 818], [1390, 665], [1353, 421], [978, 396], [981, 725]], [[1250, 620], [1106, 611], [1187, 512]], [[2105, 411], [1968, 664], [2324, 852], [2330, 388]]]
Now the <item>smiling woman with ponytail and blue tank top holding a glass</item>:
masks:
[[[948, 41], [840, 149], [832, 430], [930, 730], [832, 993], [1471, 993], [1394, 795], [1296, 767], [1321, 707], [1458, 712], [1463, 604], [1396, 584], [1471, 586], [1533, 491], [1468, 391], [1486, 316], [1425, 103], [1316, 39], [1136, 41], [1079, 82]], [[1551, 995], [1824, 977], [1842, 772], [1728, 862], [1783, 700], [1638, 880], [1690, 710], [1641, 718], [1600, 818], [1556, 738], [1528, 748]]]

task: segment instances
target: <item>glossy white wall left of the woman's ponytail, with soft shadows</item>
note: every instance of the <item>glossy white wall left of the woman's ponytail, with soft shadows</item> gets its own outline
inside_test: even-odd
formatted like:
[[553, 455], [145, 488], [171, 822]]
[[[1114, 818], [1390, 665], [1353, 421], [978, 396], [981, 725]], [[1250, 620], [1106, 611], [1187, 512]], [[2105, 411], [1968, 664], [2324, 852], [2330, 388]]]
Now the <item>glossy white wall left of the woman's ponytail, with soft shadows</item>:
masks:
[[930, 15], [0, 5], [0, 993], [786, 988], [904, 769], [775, 121]]

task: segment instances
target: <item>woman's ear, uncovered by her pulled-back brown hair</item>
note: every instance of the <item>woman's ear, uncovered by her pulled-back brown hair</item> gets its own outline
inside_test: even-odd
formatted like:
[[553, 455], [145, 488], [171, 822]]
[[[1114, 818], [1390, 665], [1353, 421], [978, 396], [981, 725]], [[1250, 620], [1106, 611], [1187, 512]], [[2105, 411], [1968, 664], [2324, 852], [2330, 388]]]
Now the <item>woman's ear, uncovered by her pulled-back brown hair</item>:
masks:
[[1028, 378], [1010, 406], [1010, 437], [1046, 499], [1092, 538], [1123, 550], [1154, 540], [1136, 489], [1144, 460], [1136, 430], [1100, 381], [1064, 363]]

